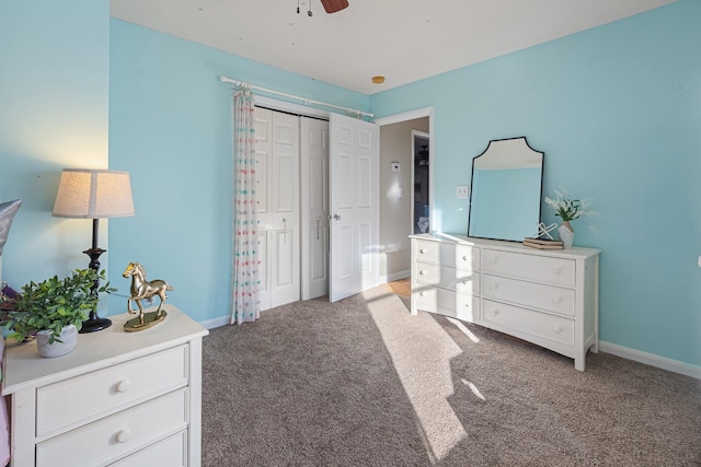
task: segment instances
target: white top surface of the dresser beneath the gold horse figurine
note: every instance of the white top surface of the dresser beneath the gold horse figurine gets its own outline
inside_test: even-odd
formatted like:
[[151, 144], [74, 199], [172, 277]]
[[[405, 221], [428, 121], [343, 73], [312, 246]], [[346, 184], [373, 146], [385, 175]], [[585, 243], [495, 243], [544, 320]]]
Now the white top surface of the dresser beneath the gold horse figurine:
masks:
[[36, 342], [5, 342], [2, 395], [26, 387], [50, 384], [100, 367], [147, 355], [169, 347], [202, 338], [207, 329], [176, 307], [165, 304], [163, 323], [149, 329], [126, 332], [124, 324], [136, 315], [108, 316], [112, 326], [97, 332], [78, 336], [78, 346], [67, 355], [55, 359], [39, 357]]

